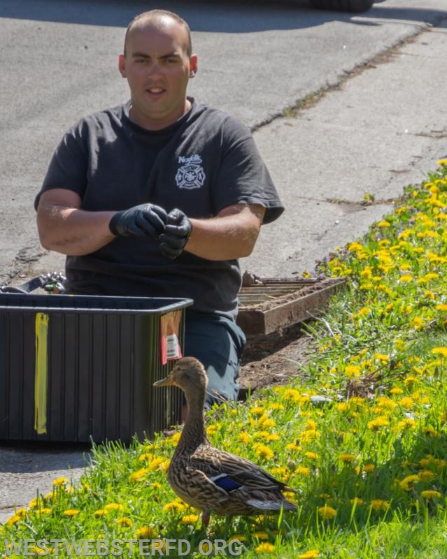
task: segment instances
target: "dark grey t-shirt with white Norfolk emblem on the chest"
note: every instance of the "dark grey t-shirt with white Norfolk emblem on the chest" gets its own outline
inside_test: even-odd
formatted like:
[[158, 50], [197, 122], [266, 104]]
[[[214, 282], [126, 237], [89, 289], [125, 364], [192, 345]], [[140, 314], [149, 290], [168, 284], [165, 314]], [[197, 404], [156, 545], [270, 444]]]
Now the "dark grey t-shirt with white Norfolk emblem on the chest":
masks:
[[[264, 223], [277, 219], [284, 208], [250, 131], [190, 100], [190, 110], [160, 131], [134, 124], [129, 103], [81, 119], [55, 150], [35, 207], [43, 191], [64, 188], [89, 211], [150, 202], [203, 218], [247, 203], [266, 208]], [[192, 298], [194, 310], [236, 317], [236, 260], [185, 251], [171, 261], [157, 240], [117, 237], [92, 254], [67, 256], [65, 271], [68, 293]]]

